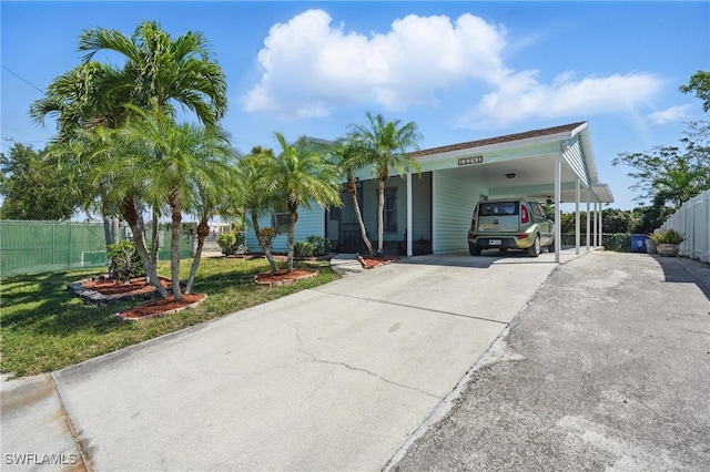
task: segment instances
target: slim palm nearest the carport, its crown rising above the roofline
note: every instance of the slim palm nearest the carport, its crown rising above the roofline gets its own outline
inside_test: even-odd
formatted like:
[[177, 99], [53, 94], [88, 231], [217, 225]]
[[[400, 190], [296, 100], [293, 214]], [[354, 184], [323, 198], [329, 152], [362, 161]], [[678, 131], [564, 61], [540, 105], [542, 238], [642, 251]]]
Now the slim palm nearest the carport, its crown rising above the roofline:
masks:
[[412, 166], [420, 172], [419, 163], [414, 160], [407, 150], [418, 150], [418, 142], [422, 138], [414, 122], [400, 124], [399, 120], [385, 121], [382, 114], [366, 114], [367, 124], [352, 124], [349, 136], [366, 150], [366, 161], [372, 165], [377, 176], [377, 254], [383, 255], [384, 246], [384, 207], [385, 207], [385, 184], [389, 179], [389, 168], [398, 174], [408, 173]]

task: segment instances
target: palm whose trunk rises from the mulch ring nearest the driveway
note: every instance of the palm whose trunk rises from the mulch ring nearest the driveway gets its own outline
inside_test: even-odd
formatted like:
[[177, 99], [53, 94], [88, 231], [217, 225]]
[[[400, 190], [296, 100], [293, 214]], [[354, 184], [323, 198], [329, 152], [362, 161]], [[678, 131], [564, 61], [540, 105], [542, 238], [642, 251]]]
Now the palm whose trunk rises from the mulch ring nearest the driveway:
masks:
[[135, 116], [129, 119], [119, 135], [125, 153], [142, 158], [134, 167], [138, 172], [124, 177], [130, 186], [142, 183], [143, 197], [153, 208], [166, 205], [170, 211], [172, 293], [175, 300], [181, 300], [182, 214], [196, 207], [200, 192], [209, 199], [234, 172], [230, 166], [234, 150], [217, 126], [179, 125], [160, 111], [133, 109]]

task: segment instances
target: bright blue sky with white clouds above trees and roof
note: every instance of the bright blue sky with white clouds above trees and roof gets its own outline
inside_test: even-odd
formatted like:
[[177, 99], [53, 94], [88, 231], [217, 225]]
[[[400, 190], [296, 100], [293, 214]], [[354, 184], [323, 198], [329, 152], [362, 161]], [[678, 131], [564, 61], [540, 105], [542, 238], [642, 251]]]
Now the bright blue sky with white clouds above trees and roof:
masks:
[[[682, 94], [710, 68], [710, 2], [0, 2], [1, 145], [54, 133], [29, 106], [80, 63], [89, 28], [156, 20], [202, 32], [229, 81], [223, 122], [242, 152], [274, 132], [335, 138], [365, 113], [414, 121], [422, 148], [589, 121], [611, 206], [638, 205], [621, 152], [677, 144], [703, 120]], [[116, 57], [97, 55], [115, 64]]]

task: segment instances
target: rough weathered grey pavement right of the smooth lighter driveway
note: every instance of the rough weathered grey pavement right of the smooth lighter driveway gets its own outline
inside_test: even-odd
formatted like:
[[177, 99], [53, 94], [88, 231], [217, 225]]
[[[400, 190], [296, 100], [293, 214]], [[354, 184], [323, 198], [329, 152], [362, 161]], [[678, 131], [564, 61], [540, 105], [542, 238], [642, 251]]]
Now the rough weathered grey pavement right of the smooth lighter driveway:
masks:
[[710, 471], [710, 266], [564, 264], [387, 470]]

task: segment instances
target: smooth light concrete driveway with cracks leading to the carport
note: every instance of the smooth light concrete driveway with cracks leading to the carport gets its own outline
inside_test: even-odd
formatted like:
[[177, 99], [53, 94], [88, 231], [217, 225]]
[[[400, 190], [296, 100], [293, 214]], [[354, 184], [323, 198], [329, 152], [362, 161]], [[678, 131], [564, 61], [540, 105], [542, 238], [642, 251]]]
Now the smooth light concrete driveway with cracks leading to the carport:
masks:
[[28, 470], [8, 458], [23, 453], [101, 471], [379, 470], [556, 267], [403, 259], [3, 381], [3, 470]]

